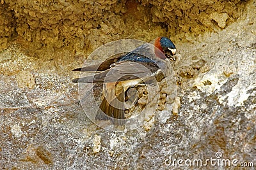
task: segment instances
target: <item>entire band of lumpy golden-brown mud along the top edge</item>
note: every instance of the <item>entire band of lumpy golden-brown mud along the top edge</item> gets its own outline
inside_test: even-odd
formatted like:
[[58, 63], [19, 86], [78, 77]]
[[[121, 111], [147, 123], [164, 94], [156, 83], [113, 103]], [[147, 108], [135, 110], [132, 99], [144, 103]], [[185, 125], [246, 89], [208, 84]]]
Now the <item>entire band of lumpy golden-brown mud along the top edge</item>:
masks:
[[[244, 1], [239, 0], [2, 0], [0, 47], [6, 48], [17, 35], [37, 42], [36, 48], [71, 45], [80, 52], [109, 40], [138, 38], [148, 34], [148, 27], [173, 39], [189, 40], [205, 31], [223, 29], [240, 17], [243, 6]], [[139, 38], [148, 41], [152, 37]]]

